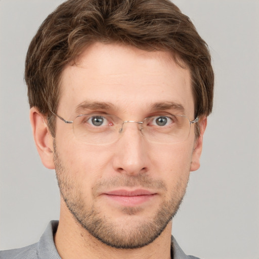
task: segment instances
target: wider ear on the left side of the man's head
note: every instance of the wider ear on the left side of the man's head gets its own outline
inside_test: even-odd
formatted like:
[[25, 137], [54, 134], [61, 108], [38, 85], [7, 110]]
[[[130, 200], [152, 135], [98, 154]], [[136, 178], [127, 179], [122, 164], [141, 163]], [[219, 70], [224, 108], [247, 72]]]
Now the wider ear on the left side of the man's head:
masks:
[[46, 123], [46, 116], [41, 114], [35, 107], [32, 107], [30, 109], [30, 123], [42, 164], [49, 169], [55, 169], [53, 137]]

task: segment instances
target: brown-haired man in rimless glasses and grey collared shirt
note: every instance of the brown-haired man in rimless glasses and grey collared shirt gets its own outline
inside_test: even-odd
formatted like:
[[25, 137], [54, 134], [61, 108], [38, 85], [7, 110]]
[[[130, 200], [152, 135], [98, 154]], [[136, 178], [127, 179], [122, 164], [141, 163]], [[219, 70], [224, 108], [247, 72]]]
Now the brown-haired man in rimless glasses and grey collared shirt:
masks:
[[171, 220], [199, 168], [213, 71], [189, 18], [167, 0], [69, 0], [32, 39], [25, 80], [60, 220], [0, 258], [194, 258]]

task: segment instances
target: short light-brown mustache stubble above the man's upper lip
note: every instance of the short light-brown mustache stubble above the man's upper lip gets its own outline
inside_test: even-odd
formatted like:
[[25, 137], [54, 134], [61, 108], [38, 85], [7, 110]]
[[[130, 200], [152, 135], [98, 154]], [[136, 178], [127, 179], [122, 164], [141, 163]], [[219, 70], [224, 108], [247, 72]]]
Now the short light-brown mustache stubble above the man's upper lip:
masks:
[[117, 187], [141, 187], [152, 190], [167, 191], [166, 185], [159, 179], [152, 179], [146, 174], [135, 176], [121, 175], [113, 176], [110, 179], [103, 179], [93, 187], [93, 194], [107, 191]]

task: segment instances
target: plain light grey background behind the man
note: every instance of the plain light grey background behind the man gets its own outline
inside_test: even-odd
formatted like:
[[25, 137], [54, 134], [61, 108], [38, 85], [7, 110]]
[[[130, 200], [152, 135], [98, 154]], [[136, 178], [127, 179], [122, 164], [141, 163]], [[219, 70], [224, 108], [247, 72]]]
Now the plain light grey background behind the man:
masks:
[[[36, 242], [59, 218], [55, 172], [41, 165], [23, 82], [29, 41], [61, 0], [0, 1], [0, 249]], [[207, 41], [213, 114], [172, 232], [188, 254], [259, 258], [259, 1], [177, 0]]]

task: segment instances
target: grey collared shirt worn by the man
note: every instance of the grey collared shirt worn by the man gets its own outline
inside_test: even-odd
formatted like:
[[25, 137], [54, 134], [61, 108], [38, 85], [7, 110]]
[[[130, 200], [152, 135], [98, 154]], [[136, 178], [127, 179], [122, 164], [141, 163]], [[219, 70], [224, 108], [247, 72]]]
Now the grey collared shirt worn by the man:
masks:
[[[61, 259], [53, 239], [58, 224], [58, 221], [51, 221], [44, 234], [35, 244], [23, 248], [0, 251], [0, 259]], [[171, 257], [174, 259], [199, 259], [198, 257], [186, 255], [174, 237], [171, 238]]]

